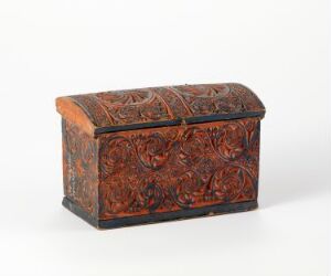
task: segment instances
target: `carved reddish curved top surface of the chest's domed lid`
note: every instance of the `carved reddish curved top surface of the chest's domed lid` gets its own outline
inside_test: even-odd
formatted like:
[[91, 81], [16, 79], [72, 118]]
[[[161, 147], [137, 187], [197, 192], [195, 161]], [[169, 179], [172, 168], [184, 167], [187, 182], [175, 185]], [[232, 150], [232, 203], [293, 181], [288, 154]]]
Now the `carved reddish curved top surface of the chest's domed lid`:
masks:
[[76, 95], [71, 98], [96, 127], [264, 112], [256, 95], [239, 84], [164, 86]]

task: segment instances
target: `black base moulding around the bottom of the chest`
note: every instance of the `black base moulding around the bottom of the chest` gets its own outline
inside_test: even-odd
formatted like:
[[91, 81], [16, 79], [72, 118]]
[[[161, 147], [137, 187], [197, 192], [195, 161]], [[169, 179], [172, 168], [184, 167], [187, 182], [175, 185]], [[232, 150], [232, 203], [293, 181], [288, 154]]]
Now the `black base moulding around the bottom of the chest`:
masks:
[[82, 208], [76, 205], [66, 197], [63, 198], [62, 204], [72, 211], [74, 214], [78, 215], [84, 221], [88, 222], [90, 225], [97, 229], [117, 229], [124, 226], [132, 226], [138, 224], [156, 223], [156, 222], [166, 222], [171, 220], [183, 220], [196, 216], [214, 215], [222, 213], [234, 213], [234, 212], [244, 212], [257, 208], [257, 201], [246, 201], [238, 203], [227, 203], [227, 204], [217, 204], [195, 209], [186, 209], [174, 212], [167, 213], [151, 213], [146, 215], [137, 216], [127, 216], [118, 217], [107, 221], [100, 221], [92, 215], [87, 214]]

